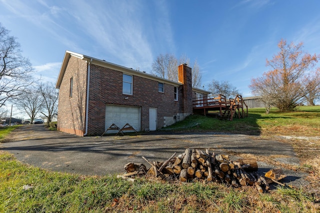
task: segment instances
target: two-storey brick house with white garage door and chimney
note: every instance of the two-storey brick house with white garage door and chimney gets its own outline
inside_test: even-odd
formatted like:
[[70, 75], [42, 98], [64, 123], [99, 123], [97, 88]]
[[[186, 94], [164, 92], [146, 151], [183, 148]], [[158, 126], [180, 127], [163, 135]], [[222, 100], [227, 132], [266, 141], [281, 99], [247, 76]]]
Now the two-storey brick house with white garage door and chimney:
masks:
[[101, 135], [126, 123], [153, 131], [192, 114], [192, 98], [209, 92], [192, 88], [191, 68], [178, 66], [179, 82], [66, 51], [55, 87], [57, 129], [79, 136]]

